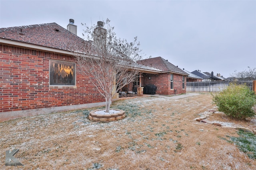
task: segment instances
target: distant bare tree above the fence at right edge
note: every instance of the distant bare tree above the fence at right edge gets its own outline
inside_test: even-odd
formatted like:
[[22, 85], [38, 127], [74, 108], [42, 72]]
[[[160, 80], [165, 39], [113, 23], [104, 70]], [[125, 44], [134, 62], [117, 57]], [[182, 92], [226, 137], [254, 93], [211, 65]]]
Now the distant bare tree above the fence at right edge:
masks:
[[232, 77], [236, 77], [238, 80], [256, 80], [256, 68], [250, 68], [244, 71], [234, 71], [233, 74], [230, 74]]

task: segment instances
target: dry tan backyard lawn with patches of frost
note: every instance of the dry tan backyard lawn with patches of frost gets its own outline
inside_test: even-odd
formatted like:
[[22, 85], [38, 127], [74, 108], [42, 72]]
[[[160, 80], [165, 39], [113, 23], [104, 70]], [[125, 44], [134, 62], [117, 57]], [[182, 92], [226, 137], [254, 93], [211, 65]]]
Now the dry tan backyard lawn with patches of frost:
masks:
[[[112, 107], [125, 110], [126, 118], [98, 123], [80, 110], [0, 123], [0, 169], [255, 170], [256, 160], [227, 141], [238, 137], [236, 129], [194, 121], [217, 111], [210, 94], [126, 98]], [[207, 120], [256, 128], [254, 120], [234, 121], [218, 112]], [[6, 150], [13, 149], [24, 166], [4, 165]]]

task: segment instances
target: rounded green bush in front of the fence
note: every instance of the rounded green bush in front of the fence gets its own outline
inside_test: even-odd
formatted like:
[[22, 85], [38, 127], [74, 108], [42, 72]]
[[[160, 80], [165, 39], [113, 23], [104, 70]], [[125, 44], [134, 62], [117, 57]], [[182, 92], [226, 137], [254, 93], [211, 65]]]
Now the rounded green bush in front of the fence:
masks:
[[219, 111], [233, 119], [243, 120], [255, 115], [256, 95], [246, 85], [230, 84], [222, 92], [212, 94]]

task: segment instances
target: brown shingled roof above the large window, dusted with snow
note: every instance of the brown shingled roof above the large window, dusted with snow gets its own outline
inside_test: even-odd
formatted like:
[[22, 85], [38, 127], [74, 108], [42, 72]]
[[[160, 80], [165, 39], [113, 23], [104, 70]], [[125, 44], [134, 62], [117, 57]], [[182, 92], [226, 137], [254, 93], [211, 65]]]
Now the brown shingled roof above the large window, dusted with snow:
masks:
[[57, 23], [0, 28], [0, 38], [65, 51], [78, 51], [85, 44], [90, 45]]

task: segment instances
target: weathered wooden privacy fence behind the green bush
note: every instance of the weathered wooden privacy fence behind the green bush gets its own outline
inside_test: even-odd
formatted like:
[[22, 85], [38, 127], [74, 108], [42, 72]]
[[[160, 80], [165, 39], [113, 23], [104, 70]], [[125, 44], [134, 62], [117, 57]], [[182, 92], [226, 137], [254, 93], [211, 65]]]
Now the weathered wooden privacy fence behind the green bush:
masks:
[[256, 81], [236, 81], [236, 82], [187, 82], [186, 91], [192, 92], [220, 92], [231, 83], [236, 84], [246, 84], [250, 87], [250, 90], [253, 89], [253, 82]]

